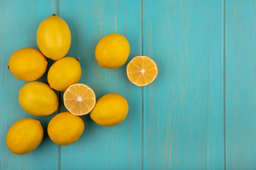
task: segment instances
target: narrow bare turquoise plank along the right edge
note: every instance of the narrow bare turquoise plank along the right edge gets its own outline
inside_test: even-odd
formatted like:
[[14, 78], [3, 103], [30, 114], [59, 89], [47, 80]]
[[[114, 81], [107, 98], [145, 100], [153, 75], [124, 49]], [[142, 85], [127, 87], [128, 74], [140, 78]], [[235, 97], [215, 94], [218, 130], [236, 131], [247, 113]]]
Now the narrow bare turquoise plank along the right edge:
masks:
[[256, 2], [227, 0], [227, 170], [256, 169]]

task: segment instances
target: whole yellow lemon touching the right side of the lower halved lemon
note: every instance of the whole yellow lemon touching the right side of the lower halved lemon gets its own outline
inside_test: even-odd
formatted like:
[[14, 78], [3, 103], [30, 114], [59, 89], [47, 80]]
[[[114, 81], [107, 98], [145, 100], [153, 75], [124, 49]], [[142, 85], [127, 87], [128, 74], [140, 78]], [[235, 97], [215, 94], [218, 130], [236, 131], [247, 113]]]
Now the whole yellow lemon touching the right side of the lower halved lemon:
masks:
[[100, 97], [90, 112], [91, 119], [101, 126], [120, 124], [128, 114], [127, 100], [117, 94], [109, 93]]

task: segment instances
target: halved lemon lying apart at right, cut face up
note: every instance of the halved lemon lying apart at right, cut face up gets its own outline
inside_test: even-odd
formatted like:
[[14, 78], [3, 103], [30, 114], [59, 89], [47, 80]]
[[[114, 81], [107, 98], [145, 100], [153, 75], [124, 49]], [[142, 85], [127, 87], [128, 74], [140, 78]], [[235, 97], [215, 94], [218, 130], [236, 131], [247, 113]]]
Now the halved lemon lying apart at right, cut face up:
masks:
[[134, 57], [126, 67], [127, 77], [137, 86], [146, 86], [157, 77], [157, 64], [147, 56]]

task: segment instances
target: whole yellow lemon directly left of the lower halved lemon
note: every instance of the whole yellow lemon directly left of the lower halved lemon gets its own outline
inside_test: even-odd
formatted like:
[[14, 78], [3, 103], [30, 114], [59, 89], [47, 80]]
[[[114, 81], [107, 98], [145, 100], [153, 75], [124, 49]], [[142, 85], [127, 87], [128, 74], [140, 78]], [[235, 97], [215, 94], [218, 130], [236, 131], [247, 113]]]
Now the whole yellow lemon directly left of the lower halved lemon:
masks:
[[19, 91], [20, 106], [29, 114], [47, 116], [58, 110], [58, 97], [49, 85], [29, 82]]

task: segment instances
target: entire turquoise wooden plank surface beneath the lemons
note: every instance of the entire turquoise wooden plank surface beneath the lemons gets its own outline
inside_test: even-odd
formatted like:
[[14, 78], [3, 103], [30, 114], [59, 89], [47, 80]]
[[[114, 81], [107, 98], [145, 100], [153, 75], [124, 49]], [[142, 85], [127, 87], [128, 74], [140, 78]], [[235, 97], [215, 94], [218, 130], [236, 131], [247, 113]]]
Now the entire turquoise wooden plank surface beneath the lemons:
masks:
[[[129, 104], [118, 126], [83, 116], [85, 131], [70, 146], [54, 144], [46, 132], [65, 110], [63, 93], [58, 112], [29, 115], [18, 103], [26, 82], [7, 69], [14, 51], [38, 49], [38, 25], [52, 13], [70, 26], [67, 55], [80, 59], [80, 82], [97, 99], [119, 93]], [[0, 0], [0, 170], [255, 170], [255, 18], [254, 0]], [[128, 61], [136, 55], [155, 60], [159, 74], [152, 84], [130, 83], [128, 62], [114, 70], [98, 65], [97, 42], [112, 32], [128, 39]], [[13, 155], [5, 136], [25, 117], [41, 121], [44, 139], [34, 152]]]

